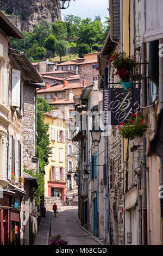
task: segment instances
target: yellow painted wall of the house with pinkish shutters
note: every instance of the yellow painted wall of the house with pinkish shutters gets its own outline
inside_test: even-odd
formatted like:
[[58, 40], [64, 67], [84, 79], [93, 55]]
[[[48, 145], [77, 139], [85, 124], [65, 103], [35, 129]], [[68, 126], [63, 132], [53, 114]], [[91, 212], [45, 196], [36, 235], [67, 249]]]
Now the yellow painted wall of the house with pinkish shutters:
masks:
[[[50, 147], [55, 147], [55, 161], [52, 161], [52, 157], [49, 157], [49, 164], [45, 167], [45, 197], [48, 196], [48, 181], [51, 180], [51, 166], [63, 167], [65, 168], [65, 143], [57, 141], [57, 131], [65, 131], [65, 120], [60, 118], [52, 118], [45, 115], [45, 124], [49, 124], [49, 139]], [[51, 128], [55, 128], [55, 141], [51, 141]], [[59, 148], [62, 148], [64, 151], [63, 162], [59, 162]]]

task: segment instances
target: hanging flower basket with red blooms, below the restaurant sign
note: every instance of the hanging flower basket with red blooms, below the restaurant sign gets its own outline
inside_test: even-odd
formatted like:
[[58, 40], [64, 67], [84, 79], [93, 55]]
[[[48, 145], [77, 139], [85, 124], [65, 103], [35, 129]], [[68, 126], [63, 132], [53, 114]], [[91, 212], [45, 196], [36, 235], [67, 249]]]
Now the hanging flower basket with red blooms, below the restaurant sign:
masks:
[[[118, 125], [118, 130], [123, 138], [130, 139], [132, 141], [134, 138], [143, 137], [143, 133], [147, 130], [147, 125], [139, 113], [132, 114], [132, 117], [127, 123], [121, 123]], [[142, 138], [141, 138], [142, 139]], [[138, 143], [141, 143], [138, 141]]]

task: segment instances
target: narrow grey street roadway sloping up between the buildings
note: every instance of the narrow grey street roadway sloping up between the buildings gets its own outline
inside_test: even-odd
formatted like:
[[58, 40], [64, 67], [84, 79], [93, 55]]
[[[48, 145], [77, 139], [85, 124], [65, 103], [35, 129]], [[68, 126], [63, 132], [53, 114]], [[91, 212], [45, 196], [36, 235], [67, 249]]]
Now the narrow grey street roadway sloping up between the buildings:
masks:
[[78, 206], [65, 206], [51, 215], [51, 236], [60, 234], [68, 245], [99, 245], [86, 231], [79, 227], [77, 221]]

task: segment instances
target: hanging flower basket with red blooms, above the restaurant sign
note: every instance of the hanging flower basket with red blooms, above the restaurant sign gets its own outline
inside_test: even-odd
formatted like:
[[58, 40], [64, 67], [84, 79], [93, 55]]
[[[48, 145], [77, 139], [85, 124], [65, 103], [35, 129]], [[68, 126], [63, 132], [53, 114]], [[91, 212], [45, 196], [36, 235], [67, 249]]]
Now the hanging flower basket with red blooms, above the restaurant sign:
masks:
[[116, 75], [119, 75], [123, 82], [129, 82], [131, 72], [136, 66], [134, 56], [128, 57], [126, 52], [113, 53], [109, 62], [117, 69]]

